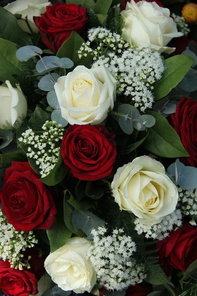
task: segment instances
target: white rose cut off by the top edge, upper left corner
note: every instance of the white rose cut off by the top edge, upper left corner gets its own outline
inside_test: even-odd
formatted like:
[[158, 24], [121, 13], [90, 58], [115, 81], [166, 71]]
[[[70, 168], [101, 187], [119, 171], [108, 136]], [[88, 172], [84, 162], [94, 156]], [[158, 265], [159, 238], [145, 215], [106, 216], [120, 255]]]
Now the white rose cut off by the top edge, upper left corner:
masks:
[[[22, 14], [23, 19], [28, 16], [28, 22], [32, 31], [38, 33], [39, 30], [33, 22], [33, 16], [40, 16], [41, 13], [46, 11], [46, 6], [48, 5], [52, 4], [47, 0], [16, 0], [7, 4], [4, 8], [13, 14]], [[18, 23], [23, 31], [31, 33], [24, 20], [18, 20]]]

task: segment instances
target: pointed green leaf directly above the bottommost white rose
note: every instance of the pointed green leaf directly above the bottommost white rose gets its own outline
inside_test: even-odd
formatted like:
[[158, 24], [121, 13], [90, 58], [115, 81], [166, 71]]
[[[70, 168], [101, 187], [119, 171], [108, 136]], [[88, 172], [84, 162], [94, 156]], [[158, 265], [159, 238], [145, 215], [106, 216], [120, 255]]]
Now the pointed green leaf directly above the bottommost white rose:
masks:
[[66, 227], [64, 221], [60, 220], [60, 215], [57, 215], [57, 221], [51, 229], [47, 230], [47, 235], [50, 241], [51, 252], [54, 252], [67, 243], [72, 232]]

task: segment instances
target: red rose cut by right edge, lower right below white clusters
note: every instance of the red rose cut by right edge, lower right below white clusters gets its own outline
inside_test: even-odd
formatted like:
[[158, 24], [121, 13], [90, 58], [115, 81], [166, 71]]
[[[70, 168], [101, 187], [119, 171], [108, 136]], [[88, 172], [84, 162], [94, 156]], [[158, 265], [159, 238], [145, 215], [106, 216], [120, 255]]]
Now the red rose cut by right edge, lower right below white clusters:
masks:
[[197, 227], [185, 223], [176, 231], [171, 231], [166, 239], [159, 241], [156, 249], [159, 249], [161, 266], [171, 266], [185, 272], [197, 259]]

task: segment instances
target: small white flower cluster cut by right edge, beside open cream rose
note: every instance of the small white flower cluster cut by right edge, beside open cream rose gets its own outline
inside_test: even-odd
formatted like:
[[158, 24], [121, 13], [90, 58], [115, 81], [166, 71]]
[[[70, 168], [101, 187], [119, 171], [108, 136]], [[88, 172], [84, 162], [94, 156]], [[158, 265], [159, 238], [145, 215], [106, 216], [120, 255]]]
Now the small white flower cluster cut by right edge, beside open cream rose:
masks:
[[[197, 216], [197, 188], [186, 190], [177, 186], [179, 192], [178, 207], [185, 216]], [[197, 226], [194, 217], [190, 223]]]

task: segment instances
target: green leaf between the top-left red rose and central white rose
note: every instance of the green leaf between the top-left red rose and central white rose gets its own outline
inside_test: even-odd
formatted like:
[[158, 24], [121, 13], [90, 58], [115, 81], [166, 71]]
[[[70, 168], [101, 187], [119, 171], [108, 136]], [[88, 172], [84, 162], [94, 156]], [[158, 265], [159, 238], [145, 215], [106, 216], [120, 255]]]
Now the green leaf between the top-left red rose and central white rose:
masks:
[[92, 56], [90, 55], [88, 57], [83, 57], [81, 59], [79, 59], [78, 56], [78, 50], [82, 46], [83, 42], [85, 42], [84, 39], [75, 31], [72, 31], [70, 37], [63, 43], [62, 47], [58, 50], [57, 56], [59, 58], [69, 58], [73, 61], [75, 66], [84, 65], [88, 67], [92, 63]]

